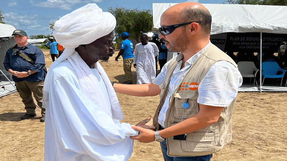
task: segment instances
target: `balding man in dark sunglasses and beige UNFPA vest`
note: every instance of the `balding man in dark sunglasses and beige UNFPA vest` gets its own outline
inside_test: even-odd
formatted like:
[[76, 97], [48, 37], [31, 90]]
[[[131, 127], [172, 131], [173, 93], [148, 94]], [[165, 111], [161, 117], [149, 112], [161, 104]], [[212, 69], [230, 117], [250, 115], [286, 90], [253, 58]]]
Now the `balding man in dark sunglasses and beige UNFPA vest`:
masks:
[[167, 62], [150, 84], [114, 84], [116, 92], [155, 96], [157, 131], [139, 127], [140, 142], [160, 141], [165, 161], [210, 160], [231, 141], [231, 116], [242, 77], [235, 62], [210, 43], [211, 14], [201, 4], [179, 3], [161, 16], [159, 38], [169, 51]]

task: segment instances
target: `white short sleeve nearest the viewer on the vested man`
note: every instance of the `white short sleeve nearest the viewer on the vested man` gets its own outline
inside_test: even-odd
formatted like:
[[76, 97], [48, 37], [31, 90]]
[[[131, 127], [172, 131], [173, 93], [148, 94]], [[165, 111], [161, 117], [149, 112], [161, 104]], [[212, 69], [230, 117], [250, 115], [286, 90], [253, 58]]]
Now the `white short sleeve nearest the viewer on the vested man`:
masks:
[[199, 84], [197, 103], [219, 107], [229, 106], [241, 85], [242, 76], [238, 69], [230, 62], [218, 61]]

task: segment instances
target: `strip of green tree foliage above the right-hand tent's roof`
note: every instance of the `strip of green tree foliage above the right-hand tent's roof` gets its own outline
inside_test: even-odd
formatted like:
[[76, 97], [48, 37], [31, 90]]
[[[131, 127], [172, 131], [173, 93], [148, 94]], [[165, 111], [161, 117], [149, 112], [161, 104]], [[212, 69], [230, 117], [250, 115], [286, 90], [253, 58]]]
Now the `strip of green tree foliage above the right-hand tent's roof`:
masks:
[[226, 0], [222, 3], [246, 5], [287, 5], [287, 0]]

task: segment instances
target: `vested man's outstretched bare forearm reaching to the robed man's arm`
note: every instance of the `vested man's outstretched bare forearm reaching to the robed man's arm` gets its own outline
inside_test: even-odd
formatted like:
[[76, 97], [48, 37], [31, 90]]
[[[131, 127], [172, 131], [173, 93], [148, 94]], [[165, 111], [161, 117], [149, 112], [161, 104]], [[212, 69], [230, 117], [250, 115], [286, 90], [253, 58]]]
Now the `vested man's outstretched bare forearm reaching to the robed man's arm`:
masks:
[[156, 96], [160, 93], [158, 85], [153, 83], [141, 84], [141, 85], [125, 85], [125, 84], [114, 84], [114, 89], [117, 93], [123, 93], [132, 96]]

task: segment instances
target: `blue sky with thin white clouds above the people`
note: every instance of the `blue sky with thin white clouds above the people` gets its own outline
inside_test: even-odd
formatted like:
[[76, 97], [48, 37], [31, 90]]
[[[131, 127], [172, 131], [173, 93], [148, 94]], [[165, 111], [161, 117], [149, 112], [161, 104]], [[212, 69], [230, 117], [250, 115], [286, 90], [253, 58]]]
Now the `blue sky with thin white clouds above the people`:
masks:
[[152, 10], [152, 3], [222, 3], [224, 0], [0, 0], [0, 10], [6, 24], [25, 30], [29, 35], [51, 34], [49, 23], [82, 7], [96, 3], [103, 11], [108, 7], [126, 7]]

